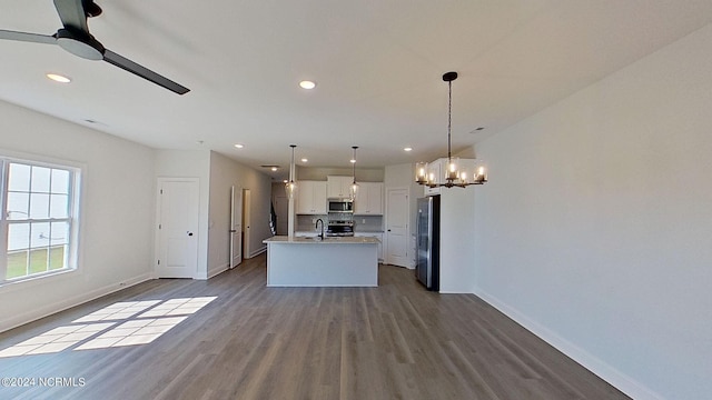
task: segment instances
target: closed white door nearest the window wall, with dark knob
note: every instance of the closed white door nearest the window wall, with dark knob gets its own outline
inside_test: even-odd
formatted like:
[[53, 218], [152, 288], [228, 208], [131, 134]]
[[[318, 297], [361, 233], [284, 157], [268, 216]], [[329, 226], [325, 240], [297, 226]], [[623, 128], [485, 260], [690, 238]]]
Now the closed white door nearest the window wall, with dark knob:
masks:
[[159, 278], [194, 278], [198, 267], [198, 188], [197, 179], [158, 181]]

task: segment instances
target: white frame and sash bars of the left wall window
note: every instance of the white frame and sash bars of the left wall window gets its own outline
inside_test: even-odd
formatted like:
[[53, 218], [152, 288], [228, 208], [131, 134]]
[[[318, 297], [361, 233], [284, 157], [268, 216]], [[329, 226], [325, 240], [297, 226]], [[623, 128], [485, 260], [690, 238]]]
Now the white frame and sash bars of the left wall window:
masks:
[[[8, 178], [9, 166], [11, 163], [21, 163], [32, 167], [52, 168], [70, 171], [70, 181], [68, 190], [68, 217], [67, 218], [43, 218], [43, 219], [24, 219], [24, 220], [8, 220], [7, 216], [7, 201], [8, 201]], [[82, 168], [70, 162], [47, 162], [32, 158], [18, 158], [8, 157], [0, 153], [0, 287], [12, 284], [16, 282], [23, 282], [29, 280], [36, 280], [38, 278], [44, 278], [75, 271], [78, 269], [78, 244], [79, 244], [79, 216], [80, 216], [80, 182]], [[22, 277], [7, 279], [8, 269], [8, 229], [12, 223], [41, 223], [41, 222], [68, 222], [69, 223], [69, 240], [67, 243], [67, 253], [65, 254], [66, 264], [63, 268], [48, 270], [38, 273], [26, 274]], [[49, 257], [49, 253], [48, 253]]]

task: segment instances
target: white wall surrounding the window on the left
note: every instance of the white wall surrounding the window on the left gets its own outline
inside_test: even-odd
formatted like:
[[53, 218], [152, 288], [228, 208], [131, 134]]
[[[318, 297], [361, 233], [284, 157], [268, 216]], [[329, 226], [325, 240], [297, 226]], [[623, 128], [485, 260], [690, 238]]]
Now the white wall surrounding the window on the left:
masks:
[[77, 271], [0, 288], [0, 331], [150, 278], [154, 150], [0, 101], [0, 151], [85, 166]]

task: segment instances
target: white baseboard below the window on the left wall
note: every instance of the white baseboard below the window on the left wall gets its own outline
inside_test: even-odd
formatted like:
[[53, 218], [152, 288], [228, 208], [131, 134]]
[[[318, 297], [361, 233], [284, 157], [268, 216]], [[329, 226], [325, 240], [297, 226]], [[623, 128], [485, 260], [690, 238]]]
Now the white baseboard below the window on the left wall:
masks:
[[46, 307], [39, 308], [37, 310], [32, 310], [30, 312], [24, 312], [21, 314], [17, 314], [17, 316], [12, 316], [10, 318], [6, 318], [3, 320], [0, 320], [0, 332], [4, 332], [8, 331], [10, 329], [23, 326], [26, 323], [32, 322], [32, 321], [37, 321], [41, 318], [44, 317], [49, 317], [51, 314], [55, 314], [57, 312], [60, 311], [65, 311], [68, 310], [72, 307], [77, 307], [79, 304], [83, 304], [86, 302], [89, 302], [91, 300], [98, 299], [102, 296], [107, 296], [107, 294], [111, 294], [113, 292], [117, 292], [119, 290], [123, 290], [126, 288], [130, 288], [132, 286], [139, 284], [141, 282], [146, 282], [148, 280], [151, 280], [151, 273], [144, 273], [141, 276], [138, 276], [136, 278], [132, 278], [128, 281], [123, 281], [123, 282], [118, 282], [118, 283], [112, 283], [109, 286], [106, 286], [103, 288], [99, 288], [99, 289], [95, 289], [92, 291], [86, 292], [86, 293], [81, 293], [81, 294], [77, 294], [75, 297], [58, 301], [58, 302], [53, 302], [51, 304], [48, 304]]

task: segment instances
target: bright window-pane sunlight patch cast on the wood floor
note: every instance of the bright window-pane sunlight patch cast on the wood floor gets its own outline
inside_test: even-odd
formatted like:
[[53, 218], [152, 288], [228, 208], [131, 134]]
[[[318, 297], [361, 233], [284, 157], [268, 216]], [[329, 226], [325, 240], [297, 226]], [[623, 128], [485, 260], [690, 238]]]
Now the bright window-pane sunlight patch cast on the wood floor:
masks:
[[71, 347], [73, 350], [91, 350], [147, 344], [215, 299], [217, 297], [117, 302], [78, 318], [71, 321], [72, 324], [55, 328], [1, 350], [0, 358], [56, 353]]

